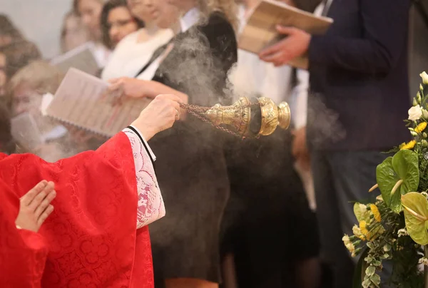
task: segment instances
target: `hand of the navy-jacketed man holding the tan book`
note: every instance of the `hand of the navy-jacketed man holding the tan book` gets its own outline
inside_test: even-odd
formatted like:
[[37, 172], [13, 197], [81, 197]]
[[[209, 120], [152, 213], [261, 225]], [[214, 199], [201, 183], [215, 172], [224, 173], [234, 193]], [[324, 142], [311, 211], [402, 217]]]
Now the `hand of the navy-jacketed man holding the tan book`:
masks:
[[311, 39], [310, 34], [294, 27], [279, 25], [277, 26], [277, 31], [286, 35], [286, 38], [263, 49], [259, 55], [260, 59], [273, 63], [275, 66], [283, 66], [287, 65], [292, 59], [307, 53]]

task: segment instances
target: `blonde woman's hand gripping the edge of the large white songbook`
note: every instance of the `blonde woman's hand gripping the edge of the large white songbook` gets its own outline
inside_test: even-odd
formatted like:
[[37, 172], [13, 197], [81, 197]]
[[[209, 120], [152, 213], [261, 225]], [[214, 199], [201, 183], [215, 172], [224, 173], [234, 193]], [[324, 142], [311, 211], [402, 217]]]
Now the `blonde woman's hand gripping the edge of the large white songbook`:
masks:
[[153, 91], [152, 81], [139, 80], [136, 78], [116, 78], [108, 81], [111, 85], [108, 91], [111, 93], [118, 93], [121, 96], [133, 98], [155, 98], [156, 93]]

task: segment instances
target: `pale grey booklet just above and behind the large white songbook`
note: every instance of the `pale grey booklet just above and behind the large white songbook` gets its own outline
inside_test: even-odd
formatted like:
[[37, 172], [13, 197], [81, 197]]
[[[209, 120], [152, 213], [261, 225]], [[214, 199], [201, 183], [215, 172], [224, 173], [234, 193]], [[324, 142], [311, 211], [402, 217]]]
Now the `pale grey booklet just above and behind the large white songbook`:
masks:
[[98, 66], [96, 58], [93, 55], [94, 49], [95, 44], [88, 42], [52, 59], [50, 63], [63, 71], [63, 73], [66, 73], [69, 68], [73, 67], [91, 75], [96, 75], [101, 67]]

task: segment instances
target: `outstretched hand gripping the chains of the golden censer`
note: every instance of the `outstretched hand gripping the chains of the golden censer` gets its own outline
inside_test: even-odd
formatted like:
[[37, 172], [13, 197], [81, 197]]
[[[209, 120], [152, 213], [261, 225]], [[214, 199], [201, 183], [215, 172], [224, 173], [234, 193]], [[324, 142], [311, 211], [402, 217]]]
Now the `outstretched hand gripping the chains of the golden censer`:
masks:
[[171, 128], [180, 118], [180, 102], [180, 97], [175, 95], [156, 96], [131, 125], [138, 128], [148, 141], [156, 133]]

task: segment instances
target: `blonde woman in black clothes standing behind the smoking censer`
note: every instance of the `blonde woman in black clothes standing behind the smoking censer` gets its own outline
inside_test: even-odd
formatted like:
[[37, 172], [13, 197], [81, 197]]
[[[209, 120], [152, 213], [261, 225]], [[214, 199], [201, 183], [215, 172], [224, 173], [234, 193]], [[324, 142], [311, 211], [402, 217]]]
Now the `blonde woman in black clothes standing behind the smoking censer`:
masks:
[[[156, 25], [176, 35], [153, 54], [140, 79], [115, 79], [111, 89], [148, 98], [170, 91], [202, 106], [231, 103], [225, 88], [237, 61], [233, 0], [146, 1], [153, 5]], [[173, 130], [151, 140], [156, 155], [162, 155], [156, 171], [169, 209], [151, 226], [159, 287], [211, 288], [220, 283], [220, 222], [230, 193], [226, 138], [187, 115]]]

